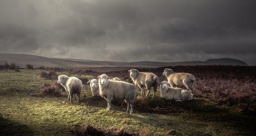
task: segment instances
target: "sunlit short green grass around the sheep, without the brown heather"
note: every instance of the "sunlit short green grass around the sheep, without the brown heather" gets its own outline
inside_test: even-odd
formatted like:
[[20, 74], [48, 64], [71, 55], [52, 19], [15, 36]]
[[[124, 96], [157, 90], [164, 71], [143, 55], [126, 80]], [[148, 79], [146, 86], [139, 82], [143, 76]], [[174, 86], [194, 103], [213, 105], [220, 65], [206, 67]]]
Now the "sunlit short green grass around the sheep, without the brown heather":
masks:
[[[159, 97], [149, 101], [157, 105], [175, 106], [181, 113], [139, 112], [135, 106], [132, 115], [126, 107], [112, 105], [91, 95], [89, 85], [84, 85], [81, 103], [62, 97], [38, 98], [31, 94], [40, 91], [43, 83], [53, 82], [39, 77], [40, 70], [0, 70], [0, 133], [6, 135], [72, 135], [71, 131], [85, 123], [98, 127], [121, 127], [140, 132], [150, 128], [152, 135], [165, 135], [176, 129], [177, 135], [255, 135], [255, 116], [239, 112], [236, 106], [219, 105], [207, 98], [193, 98], [186, 103], [167, 101]], [[58, 75], [72, 75], [67, 72]], [[88, 79], [95, 77], [83, 75]], [[140, 91], [137, 91], [140, 95]], [[151, 95], [152, 96], [152, 92]], [[137, 108], [137, 109], [136, 109]]]

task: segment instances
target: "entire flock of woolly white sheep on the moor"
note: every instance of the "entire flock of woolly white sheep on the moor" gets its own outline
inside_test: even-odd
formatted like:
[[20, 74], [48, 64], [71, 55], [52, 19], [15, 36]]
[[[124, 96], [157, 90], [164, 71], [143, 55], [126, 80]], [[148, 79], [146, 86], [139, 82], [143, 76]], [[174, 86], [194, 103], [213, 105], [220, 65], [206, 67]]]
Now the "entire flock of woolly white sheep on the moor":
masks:
[[[147, 89], [146, 96], [149, 95], [151, 88], [153, 87], [154, 94], [159, 85], [159, 77], [154, 73], [139, 72], [136, 69], [128, 70], [130, 77], [134, 84], [141, 89], [141, 95], [145, 94], [144, 88]], [[161, 98], [174, 100], [178, 102], [190, 101], [193, 96], [193, 85], [195, 82], [194, 75], [189, 73], [174, 73], [172, 69], [166, 68], [163, 73], [167, 77], [167, 81], [160, 83], [160, 94]], [[98, 76], [97, 79], [92, 79], [87, 82], [90, 83], [90, 88], [93, 96], [101, 96], [107, 100], [107, 110], [111, 108], [111, 101], [113, 98], [125, 99], [127, 103], [127, 111], [130, 114], [133, 113], [133, 104], [136, 98], [137, 87], [134, 84], [121, 81], [118, 77], [110, 79], [105, 74]], [[77, 94], [78, 102], [80, 101], [80, 94], [83, 88], [81, 80], [76, 77], [68, 77], [66, 75], [60, 75], [58, 77], [59, 84], [66, 89], [68, 93], [68, 100], [72, 103], [72, 97]], [[171, 87], [169, 87], [169, 85]], [[180, 87], [180, 88], [178, 88]], [[186, 88], [181, 89], [181, 88]]]

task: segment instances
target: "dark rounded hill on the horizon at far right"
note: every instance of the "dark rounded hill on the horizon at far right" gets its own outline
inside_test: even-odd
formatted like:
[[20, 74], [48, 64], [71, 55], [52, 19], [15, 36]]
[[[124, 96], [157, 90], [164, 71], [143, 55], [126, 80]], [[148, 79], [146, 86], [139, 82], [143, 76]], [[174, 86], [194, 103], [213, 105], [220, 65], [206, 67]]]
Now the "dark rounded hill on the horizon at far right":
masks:
[[220, 59], [208, 59], [204, 61], [206, 63], [211, 63], [214, 65], [239, 65], [239, 66], [248, 66], [247, 63], [244, 61], [240, 61], [237, 59], [230, 59], [230, 58], [220, 58]]

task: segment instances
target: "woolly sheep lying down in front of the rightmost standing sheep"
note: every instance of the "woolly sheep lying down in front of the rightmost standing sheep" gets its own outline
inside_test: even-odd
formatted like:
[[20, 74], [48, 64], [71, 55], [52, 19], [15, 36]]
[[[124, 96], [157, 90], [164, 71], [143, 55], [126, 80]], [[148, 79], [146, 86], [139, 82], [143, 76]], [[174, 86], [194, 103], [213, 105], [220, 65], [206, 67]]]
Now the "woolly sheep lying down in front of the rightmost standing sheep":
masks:
[[189, 91], [181, 88], [169, 87], [169, 84], [167, 81], [163, 81], [160, 83], [160, 94], [161, 94], [161, 98], [174, 100], [178, 102], [192, 100], [192, 95], [190, 94]]

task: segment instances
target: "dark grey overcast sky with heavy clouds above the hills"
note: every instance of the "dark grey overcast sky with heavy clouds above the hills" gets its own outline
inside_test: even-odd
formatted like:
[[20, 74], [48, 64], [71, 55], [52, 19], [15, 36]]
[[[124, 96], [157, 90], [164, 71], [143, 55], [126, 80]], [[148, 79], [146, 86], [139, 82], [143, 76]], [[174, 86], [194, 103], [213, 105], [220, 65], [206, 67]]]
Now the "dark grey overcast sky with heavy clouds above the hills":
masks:
[[0, 0], [0, 53], [256, 65], [255, 0]]

